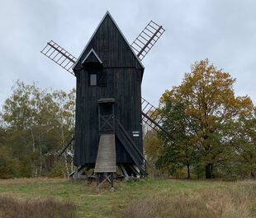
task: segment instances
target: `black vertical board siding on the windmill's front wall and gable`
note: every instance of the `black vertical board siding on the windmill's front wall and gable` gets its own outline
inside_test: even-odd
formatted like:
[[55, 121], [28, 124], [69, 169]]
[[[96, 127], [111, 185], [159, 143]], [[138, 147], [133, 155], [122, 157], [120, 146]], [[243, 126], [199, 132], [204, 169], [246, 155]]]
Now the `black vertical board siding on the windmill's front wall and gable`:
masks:
[[[80, 63], [91, 49], [101, 58], [101, 68], [87, 69]], [[140, 85], [143, 70], [111, 17], [106, 16], [74, 70], [77, 77], [74, 165], [96, 161], [99, 143], [97, 100], [101, 98], [115, 98], [116, 118], [142, 152]], [[91, 72], [105, 73], [107, 86], [89, 86]], [[140, 137], [133, 137], [133, 131], [140, 131]], [[132, 162], [117, 139], [116, 161]]]

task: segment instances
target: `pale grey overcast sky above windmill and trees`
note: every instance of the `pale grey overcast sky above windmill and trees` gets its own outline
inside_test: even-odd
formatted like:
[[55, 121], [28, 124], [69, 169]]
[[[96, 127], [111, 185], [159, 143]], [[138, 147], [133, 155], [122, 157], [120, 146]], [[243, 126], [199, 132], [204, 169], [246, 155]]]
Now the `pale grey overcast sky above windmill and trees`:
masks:
[[142, 93], [158, 105], [203, 58], [237, 78], [235, 95], [256, 104], [256, 1], [254, 0], [0, 0], [0, 105], [17, 79], [41, 88], [71, 90], [75, 77], [45, 58], [50, 39], [78, 57], [102, 16], [111, 12], [130, 43], [147, 22], [164, 35], [143, 60]]

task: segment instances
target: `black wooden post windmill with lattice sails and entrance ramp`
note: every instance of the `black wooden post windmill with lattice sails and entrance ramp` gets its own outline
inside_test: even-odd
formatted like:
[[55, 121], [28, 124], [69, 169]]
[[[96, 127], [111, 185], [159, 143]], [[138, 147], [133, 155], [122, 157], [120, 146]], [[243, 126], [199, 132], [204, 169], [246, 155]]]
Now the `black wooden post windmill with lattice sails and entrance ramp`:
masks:
[[98, 186], [113, 185], [116, 167], [125, 179], [145, 177], [142, 121], [171, 137], [159, 110], [141, 97], [141, 61], [163, 33], [149, 21], [129, 44], [107, 12], [78, 58], [52, 40], [41, 50], [77, 79], [75, 132], [58, 150], [62, 155], [74, 146], [75, 179], [94, 169]]

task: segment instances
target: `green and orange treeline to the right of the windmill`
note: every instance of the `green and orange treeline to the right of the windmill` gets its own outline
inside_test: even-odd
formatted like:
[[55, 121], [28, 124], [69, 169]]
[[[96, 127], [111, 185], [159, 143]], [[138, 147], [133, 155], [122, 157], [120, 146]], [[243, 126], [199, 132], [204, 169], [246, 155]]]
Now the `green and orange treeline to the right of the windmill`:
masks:
[[159, 100], [163, 126], [173, 139], [147, 132], [153, 172], [187, 178], [256, 178], [256, 108], [235, 96], [235, 79], [208, 60], [192, 65], [180, 86]]

